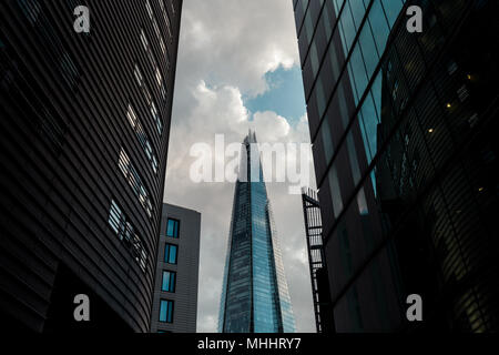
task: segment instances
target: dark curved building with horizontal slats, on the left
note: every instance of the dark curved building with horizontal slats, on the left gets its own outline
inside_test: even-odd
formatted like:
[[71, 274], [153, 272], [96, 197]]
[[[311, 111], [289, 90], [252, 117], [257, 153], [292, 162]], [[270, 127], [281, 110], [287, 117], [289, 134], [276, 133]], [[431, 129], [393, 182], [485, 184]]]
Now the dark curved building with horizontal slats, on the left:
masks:
[[1, 1], [2, 328], [150, 329], [181, 9]]

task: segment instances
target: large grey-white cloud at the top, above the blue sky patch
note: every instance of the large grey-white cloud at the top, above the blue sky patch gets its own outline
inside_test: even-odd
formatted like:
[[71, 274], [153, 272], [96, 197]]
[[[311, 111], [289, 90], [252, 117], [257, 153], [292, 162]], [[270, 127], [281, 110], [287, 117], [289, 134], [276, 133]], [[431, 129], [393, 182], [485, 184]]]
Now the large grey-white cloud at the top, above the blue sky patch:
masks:
[[[181, 52], [185, 79], [208, 74], [245, 94], [267, 89], [264, 74], [298, 63], [293, 6], [288, 0], [186, 0]], [[189, 80], [189, 79], [187, 79]]]

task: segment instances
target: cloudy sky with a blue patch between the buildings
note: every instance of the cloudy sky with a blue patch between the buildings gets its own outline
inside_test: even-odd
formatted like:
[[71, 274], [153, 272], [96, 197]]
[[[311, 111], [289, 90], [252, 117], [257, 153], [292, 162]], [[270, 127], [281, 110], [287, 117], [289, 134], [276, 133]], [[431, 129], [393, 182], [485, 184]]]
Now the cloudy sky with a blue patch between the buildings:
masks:
[[[233, 183], [194, 183], [190, 148], [309, 142], [291, 0], [184, 0], [165, 202], [202, 213], [198, 332], [216, 332]], [[231, 159], [227, 159], [227, 162]], [[299, 195], [267, 184], [298, 332], [314, 332]]]

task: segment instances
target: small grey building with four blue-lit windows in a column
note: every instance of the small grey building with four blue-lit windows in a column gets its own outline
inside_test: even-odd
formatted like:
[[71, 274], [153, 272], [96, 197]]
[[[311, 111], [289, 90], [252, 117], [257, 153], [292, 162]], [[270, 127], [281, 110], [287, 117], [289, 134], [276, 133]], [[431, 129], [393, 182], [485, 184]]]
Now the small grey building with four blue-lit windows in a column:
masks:
[[201, 214], [163, 204], [151, 333], [196, 333]]

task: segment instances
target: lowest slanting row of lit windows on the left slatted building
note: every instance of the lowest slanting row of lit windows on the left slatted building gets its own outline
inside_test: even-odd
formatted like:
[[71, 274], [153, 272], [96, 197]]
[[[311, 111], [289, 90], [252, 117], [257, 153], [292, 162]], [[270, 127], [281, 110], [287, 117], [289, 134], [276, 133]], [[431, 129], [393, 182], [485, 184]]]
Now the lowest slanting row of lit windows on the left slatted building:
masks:
[[120, 241], [129, 247], [135, 262], [145, 273], [145, 267], [147, 265], [147, 252], [145, 251], [141, 239], [134, 232], [133, 225], [130, 221], [128, 221], [125, 214], [114, 200], [111, 201], [108, 223], [111, 225], [111, 229], [118, 235]]

